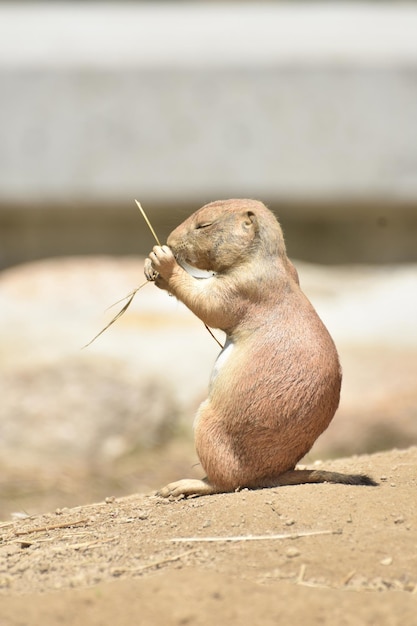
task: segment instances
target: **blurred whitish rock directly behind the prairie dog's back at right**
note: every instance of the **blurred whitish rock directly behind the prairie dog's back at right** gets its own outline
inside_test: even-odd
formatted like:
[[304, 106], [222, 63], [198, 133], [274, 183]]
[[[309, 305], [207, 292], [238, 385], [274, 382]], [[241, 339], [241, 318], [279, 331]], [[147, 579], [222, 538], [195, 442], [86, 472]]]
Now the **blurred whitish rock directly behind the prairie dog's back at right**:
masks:
[[296, 265], [338, 346], [417, 349], [417, 265]]

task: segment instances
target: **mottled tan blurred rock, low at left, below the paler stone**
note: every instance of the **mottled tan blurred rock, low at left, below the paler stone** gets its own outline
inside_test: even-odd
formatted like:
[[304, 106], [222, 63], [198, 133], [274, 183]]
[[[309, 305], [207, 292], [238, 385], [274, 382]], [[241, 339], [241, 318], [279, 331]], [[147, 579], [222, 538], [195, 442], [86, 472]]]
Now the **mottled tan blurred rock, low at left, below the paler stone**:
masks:
[[94, 466], [160, 444], [178, 418], [168, 386], [116, 359], [63, 358], [0, 380], [0, 453], [15, 464]]

